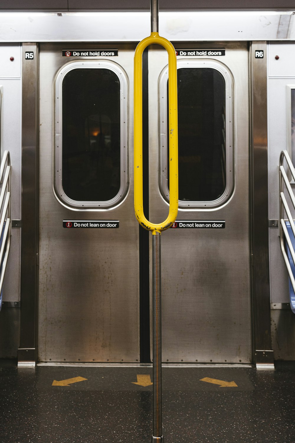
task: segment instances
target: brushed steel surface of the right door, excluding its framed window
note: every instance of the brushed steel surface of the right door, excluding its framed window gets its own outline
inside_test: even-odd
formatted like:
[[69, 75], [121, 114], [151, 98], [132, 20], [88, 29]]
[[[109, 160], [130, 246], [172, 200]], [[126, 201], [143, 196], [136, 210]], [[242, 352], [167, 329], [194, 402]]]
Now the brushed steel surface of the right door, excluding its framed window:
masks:
[[[179, 47], [179, 45], [178, 45]], [[186, 43], [202, 48], [203, 43]], [[218, 45], [216, 45], [218, 47]], [[180, 209], [179, 220], [225, 220], [225, 229], [169, 229], [162, 236], [163, 361], [249, 363], [253, 361], [249, 244], [249, 77], [248, 48], [225, 43], [218, 58], [233, 76], [234, 193], [220, 208]], [[195, 59], [195, 58], [194, 58]], [[186, 58], [189, 61], [189, 58]], [[202, 58], [206, 63], [206, 59]], [[149, 91], [157, 100], [157, 79], [165, 53], [149, 50]], [[168, 213], [158, 188], [159, 119], [150, 104], [150, 219]]]

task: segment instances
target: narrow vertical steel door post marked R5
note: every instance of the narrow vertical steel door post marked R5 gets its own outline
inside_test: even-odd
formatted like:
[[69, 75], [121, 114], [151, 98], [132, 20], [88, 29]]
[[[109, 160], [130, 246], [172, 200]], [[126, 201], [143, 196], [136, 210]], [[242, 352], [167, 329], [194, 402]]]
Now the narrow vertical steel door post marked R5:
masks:
[[[25, 59], [32, 51], [34, 58]], [[22, 48], [22, 243], [19, 362], [35, 364], [38, 251], [38, 49]]]

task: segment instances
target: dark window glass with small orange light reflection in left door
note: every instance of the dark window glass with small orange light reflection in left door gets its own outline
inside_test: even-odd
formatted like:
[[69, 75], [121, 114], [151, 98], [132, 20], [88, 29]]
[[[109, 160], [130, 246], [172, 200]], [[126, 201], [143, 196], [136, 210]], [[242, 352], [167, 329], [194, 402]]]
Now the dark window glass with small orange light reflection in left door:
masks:
[[71, 70], [62, 83], [62, 187], [76, 201], [120, 189], [120, 83], [108, 69]]

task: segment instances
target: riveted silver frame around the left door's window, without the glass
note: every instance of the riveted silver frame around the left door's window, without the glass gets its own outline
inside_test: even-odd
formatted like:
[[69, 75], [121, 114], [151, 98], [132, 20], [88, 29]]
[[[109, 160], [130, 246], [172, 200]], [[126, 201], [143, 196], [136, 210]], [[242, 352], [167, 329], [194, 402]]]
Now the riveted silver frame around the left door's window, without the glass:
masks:
[[[107, 201], [77, 201], [69, 198], [62, 187], [62, 83], [65, 76], [74, 69], [108, 69], [114, 72], [120, 82], [120, 189], [114, 198]], [[128, 191], [127, 155], [127, 93], [128, 81], [125, 71], [111, 60], [80, 60], [69, 62], [57, 72], [54, 81], [54, 160], [53, 189], [57, 200], [65, 207], [74, 210], [105, 210], [118, 206]]]

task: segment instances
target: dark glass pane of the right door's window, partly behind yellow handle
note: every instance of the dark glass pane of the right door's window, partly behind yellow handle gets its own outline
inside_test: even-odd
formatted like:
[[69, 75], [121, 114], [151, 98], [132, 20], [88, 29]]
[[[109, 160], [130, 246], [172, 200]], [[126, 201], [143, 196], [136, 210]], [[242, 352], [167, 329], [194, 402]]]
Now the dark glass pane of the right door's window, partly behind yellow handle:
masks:
[[212, 68], [180, 68], [177, 87], [179, 200], [210, 202], [226, 188], [225, 81]]

